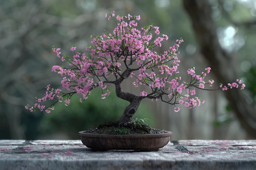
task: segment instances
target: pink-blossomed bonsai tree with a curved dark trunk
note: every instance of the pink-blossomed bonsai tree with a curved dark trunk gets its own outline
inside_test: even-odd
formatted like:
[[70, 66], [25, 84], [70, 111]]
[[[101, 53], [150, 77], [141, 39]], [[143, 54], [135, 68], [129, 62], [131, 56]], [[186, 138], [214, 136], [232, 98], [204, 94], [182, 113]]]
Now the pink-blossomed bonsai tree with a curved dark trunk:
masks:
[[[106, 15], [108, 19], [114, 16], [114, 12], [109, 16]], [[205, 79], [211, 68], [207, 67], [202, 73], [197, 74], [195, 66], [192, 66], [186, 71], [190, 79], [188, 81], [182, 79], [178, 69], [180, 60], [177, 54], [183, 40], [177, 40], [176, 44], [159, 54], [153, 49], [161, 48], [161, 42], [168, 40], [168, 36], [160, 35], [157, 26], [148, 25], [138, 28], [139, 20], [140, 15], [118, 15], [114, 31], [111, 33], [104, 31], [101, 36], [91, 36], [92, 45], [86, 48], [88, 54], [76, 52], [76, 46], [72, 46], [70, 51], [74, 55], [66, 56], [61, 54], [60, 48], [53, 46], [52, 50], [57, 57], [68, 63], [67, 66], [52, 67], [52, 71], [63, 77], [61, 84], [66, 92], [48, 85], [45, 96], [36, 98], [34, 106], [27, 105], [25, 108], [31, 112], [45, 110], [46, 113], [50, 113], [57, 102], [64, 101], [66, 106], [70, 104], [70, 99], [75, 93], [82, 96], [80, 102], [85, 101], [94, 88], [101, 88], [101, 98], [105, 99], [110, 95], [108, 84], [115, 85], [117, 97], [130, 102], [121, 115], [120, 122], [130, 122], [141, 100], [145, 98], [152, 101], [160, 99], [162, 102], [172, 104], [175, 106], [175, 112], [180, 111], [176, 106], [178, 104], [188, 108], [203, 104], [204, 101], [195, 94], [196, 90], [207, 90], [206, 85], [209, 87], [213, 85], [213, 79]], [[124, 92], [121, 84], [125, 79], [135, 79], [131, 82], [132, 86], [146, 86], [147, 90], [139, 95]], [[245, 84], [237, 79], [236, 82], [225, 86], [220, 84], [218, 89], [226, 91], [239, 86], [240, 89], [245, 88]], [[47, 100], [55, 101], [45, 106], [43, 102]]]

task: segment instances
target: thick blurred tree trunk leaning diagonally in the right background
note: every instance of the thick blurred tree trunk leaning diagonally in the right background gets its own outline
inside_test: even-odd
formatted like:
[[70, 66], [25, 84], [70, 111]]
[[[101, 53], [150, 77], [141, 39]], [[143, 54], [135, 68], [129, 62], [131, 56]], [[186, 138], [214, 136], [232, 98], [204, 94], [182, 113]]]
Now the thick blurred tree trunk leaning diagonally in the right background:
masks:
[[[201, 52], [212, 70], [216, 70], [214, 74], [218, 81], [223, 84], [234, 82], [238, 78], [237, 67], [234, 65], [234, 58], [226, 53], [218, 42], [216, 25], [211, 18], [211, 7], [208, 1], [183, 0], [183, 4], [191, 18]], [[231, 89], [224, 93], [241, 126], [251, 137], [256, 138], [256, 109], [254, 106], [247, 104], [243, 91]]]

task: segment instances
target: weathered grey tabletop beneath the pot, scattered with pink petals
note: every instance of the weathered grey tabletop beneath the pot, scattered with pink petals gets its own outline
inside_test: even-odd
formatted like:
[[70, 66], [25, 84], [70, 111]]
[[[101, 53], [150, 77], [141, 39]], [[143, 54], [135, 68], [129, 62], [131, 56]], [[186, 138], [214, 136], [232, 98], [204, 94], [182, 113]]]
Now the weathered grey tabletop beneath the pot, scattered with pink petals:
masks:
[[170, 141], [156, 152], [93, 152], [80, 140], [0, 140], [0, 170], [256, 170], [256, 140]]

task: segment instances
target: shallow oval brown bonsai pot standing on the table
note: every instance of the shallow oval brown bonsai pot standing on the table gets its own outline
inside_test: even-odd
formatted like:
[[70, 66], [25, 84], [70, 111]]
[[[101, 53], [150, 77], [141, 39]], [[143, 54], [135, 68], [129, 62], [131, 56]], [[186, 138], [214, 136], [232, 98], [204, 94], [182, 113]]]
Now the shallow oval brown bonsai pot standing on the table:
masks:
[[79, 132], [81, 141], [93, 151], [135, 150], [157, 151], [170, 141], [173, 133], [166, 131], [160, 134], [148, 135], [101, 135]]

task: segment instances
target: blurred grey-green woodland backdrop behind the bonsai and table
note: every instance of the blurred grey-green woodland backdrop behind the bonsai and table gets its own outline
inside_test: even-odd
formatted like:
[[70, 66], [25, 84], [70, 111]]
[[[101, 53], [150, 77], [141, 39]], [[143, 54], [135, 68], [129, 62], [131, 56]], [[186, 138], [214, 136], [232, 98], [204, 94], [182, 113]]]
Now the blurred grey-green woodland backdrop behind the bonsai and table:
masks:
[[[61, 64], [52, 46], [70, 55], [84, 52], [90, 35], [112, 31], [106, 13], [141, 15], [141, 25], [160, 27], [169, 36], [163, 50], [182, 37], [180, 69], [192, 65], [198, 73], [212, 68], [216, 84], [242, 78], [244, 91], [201, 91], [206, 102], [188, 110], [160, 101], [142, 101], [134, 118], [148, 118], [154, 128], [180, 139], [256, 139], [256, 1], [255, 0], [8, 0], [0, 1], [0, 139], [79, 139], [77, 132], [115, 121], [128, 102], [107, 99], [94, 89], [82, 104], [75, 96], [67, 107], [58, 104], [50, 114], [29, 112], [34, 97], [43, 97], [51, 84], [61, 88], [52, 73]], [[124, 91], [138, 93], [132, 82]], [[76, 99], [78, 98], [78, 99]]]

